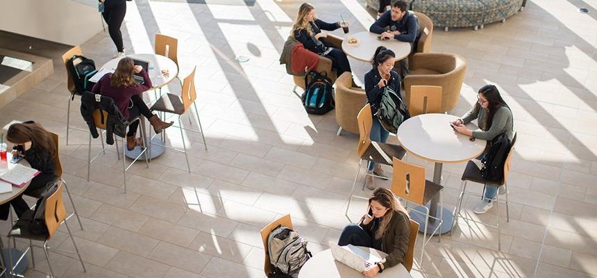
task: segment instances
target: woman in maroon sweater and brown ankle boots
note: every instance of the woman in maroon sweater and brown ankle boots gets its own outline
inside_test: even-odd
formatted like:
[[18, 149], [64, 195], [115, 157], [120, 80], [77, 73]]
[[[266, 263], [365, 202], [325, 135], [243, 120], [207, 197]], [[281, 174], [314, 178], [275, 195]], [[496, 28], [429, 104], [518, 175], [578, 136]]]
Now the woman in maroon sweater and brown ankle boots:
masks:
[[[135, 79], [133, 79], [133, 74], [143, 76], [144, 83], [137, 84]], [[151, 79], [149, 79], [147, 72], [140, 65], [134, 65], [131, 58], [122, 58], [119, 60], [115, 72], [102, 76], [93, 86], [92, 92], [114, 99], [120, 112], [128, 120], [132, 120], [138, 115], [144, 115], [151, 123], [151, 126], [153, 126], [155, 133], [160, 133], [163, 129], [174, 124], [174, 122], [162, 122], [158, 115], [151, 113], [143, 102], [140, 94], [152, 87]], [[129, 151], [133, 150], [135, 146], [141, 145], [141, 139], [135, 137], [138, 126], [139, 121], [135, 121], [128, 126], [126, 148]]]

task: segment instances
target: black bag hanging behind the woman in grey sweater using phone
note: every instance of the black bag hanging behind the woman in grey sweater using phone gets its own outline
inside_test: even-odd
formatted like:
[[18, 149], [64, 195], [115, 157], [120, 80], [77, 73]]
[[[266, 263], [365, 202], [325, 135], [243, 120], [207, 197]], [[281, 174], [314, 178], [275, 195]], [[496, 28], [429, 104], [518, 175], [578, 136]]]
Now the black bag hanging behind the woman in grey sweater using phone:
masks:
[[489, 142], [481, 157], [481, 177], [486, 181], [501, 181], [504, 178], [504, 163], [510, 152], [510, 140], [506, 133], [500, 133]]

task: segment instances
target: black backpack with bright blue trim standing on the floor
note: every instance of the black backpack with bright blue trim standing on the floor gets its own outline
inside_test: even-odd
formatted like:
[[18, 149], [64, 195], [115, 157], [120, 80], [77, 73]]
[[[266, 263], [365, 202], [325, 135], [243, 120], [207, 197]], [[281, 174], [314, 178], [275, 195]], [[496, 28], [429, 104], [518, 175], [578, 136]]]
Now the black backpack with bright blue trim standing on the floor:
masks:
[[[308, 81], [309, 76], [312, 77], [311, 81]], [[332, 81], [325, 72], [308, 72], [305, 74], [305, 84], [307, 85], [301, 100], [307, 113], [323, 115], [334, 108]]]

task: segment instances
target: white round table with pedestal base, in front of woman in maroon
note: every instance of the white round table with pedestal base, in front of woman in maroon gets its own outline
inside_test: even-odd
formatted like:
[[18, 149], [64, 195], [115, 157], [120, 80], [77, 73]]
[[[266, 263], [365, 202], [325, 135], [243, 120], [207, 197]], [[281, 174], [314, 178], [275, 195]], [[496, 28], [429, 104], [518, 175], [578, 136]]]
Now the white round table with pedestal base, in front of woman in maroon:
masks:
[[[149, 79], [151, 79], [151, 84], [153, 85], [150, 90], [156, 90], [168, 85], [168, 83], [174, 80], [174, 78], [178, 75], [178, 65], [174, 63], [174, 60], [171, 60], [166, 56], [158, 54], [129, 54], [126, 57], [149, 62], [147, 74], [149, 75]], [[122, 59], [122, 57], [109, 60], [106, 64], [102, 65], [101, 68], [115, 70], [120, 59]], [[168, 70], [168, 75], [163, 75], [162, 70]], [[142, 120], [141, 123], [141, 128], [145, 129], [145, 120]], [[151, 152], [145, 152], [145, 154], [139, 159], [144, 159], [145, 155], [148, 155], [149, 159], [153, 159], [160, 156], [165, 151], [164, 147], [161, 147], [164, 145], [164, 142], [159, 137], [153, 138], [151, 142], [153, 142], [153, 144], [149, 144], [149, 142], [147, 142], [147, 146], [149, 146]], [[126, 149], [124, 153], [126, 154], [126, 157], [135, 159], [137, 156], [139, 156], [140, 152], [142, 152], [142, 149], [140, 147], [135, 147], [135, 149], [132, 151]]]

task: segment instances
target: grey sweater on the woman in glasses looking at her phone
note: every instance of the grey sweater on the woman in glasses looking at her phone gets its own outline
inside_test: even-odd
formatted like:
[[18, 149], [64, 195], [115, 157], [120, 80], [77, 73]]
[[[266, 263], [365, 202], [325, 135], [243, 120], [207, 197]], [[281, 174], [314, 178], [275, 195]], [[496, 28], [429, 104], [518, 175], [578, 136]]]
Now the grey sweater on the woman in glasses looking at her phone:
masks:
[[514, 124], [512, 118], [512, 111], [506, 106], [501, 106], [494, 115], [494, 120], [491, 126], [487, 126], [487, 109], [478, 105], [473, 106], [469, 112], [462, 116], [461, 120], [464, 124], [468, 124], [472, 120], [477, 119], [479, 129], [473, 131], [473, 137], [483, 140], [494, 140], [502, 132], [506, 132], [508, 139], [512, 141], [514, 134]]

